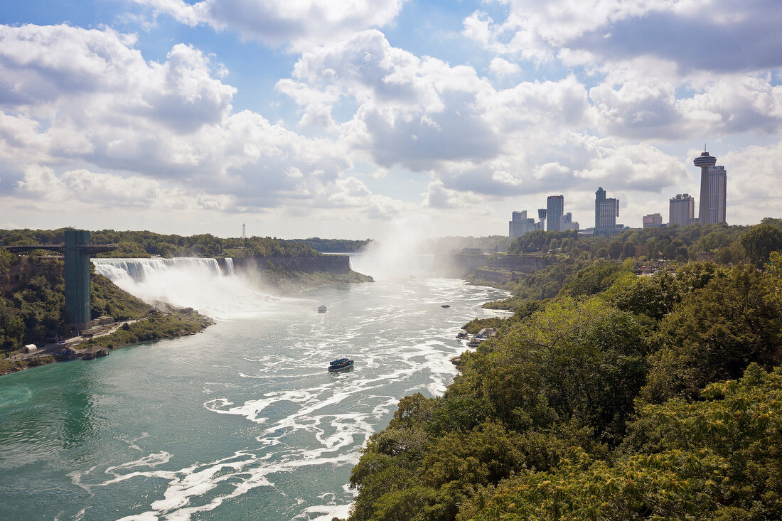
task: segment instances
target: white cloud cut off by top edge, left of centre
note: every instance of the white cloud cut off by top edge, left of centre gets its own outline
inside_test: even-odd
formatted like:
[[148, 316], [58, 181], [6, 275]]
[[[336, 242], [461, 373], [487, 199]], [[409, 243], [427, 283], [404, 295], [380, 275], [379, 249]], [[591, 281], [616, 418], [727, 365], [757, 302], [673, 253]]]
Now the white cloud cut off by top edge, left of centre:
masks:
[[396, 18], [405, 0], [135, 0], [190, 26], [208, 24], [293, 50], [346, 38]]

